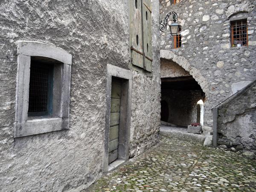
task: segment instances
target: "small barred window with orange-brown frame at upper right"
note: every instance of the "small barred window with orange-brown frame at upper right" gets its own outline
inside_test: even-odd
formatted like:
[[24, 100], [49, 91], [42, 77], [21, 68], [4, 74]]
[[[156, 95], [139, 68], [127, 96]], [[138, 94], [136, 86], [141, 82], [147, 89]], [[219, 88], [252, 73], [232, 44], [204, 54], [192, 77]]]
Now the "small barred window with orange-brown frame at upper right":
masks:
[[231, 46], [239, 47], [239, 46], [247, 46], [247, 45], [248, 45], [247, 20], [231, 22]]

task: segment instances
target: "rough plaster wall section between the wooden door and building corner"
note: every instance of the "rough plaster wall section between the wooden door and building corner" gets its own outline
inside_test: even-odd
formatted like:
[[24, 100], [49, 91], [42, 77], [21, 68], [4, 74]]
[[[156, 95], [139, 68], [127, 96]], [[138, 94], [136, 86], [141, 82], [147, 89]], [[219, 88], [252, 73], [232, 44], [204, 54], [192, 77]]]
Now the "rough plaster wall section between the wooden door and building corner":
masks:
[[130, 157], [159, 141], [161, 79], [159, 52], [159, 3], [151, 1], [153, 77], [133, 71]]

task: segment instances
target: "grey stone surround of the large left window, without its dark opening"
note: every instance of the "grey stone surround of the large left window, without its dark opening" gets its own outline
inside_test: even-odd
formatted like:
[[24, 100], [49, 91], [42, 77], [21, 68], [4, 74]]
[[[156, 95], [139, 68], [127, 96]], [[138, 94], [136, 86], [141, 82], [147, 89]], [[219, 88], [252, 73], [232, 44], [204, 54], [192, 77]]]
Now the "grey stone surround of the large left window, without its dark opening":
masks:
[[[28, 118], [29, 76], [32, 57], [58, 61], [54, 67], [53, 116]], [[37, 41], [17, 41], [17, 87], [14, 137], [69, 129], [70, 76], [72, 55]]]

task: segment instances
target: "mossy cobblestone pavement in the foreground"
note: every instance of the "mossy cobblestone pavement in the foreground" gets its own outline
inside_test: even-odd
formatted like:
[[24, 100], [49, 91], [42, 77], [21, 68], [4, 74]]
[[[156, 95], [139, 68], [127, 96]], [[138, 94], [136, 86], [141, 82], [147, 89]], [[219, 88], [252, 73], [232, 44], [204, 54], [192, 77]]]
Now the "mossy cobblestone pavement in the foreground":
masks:
[[162, 137], [86, 192], [256, 192], [256, 161]]

